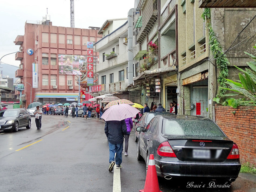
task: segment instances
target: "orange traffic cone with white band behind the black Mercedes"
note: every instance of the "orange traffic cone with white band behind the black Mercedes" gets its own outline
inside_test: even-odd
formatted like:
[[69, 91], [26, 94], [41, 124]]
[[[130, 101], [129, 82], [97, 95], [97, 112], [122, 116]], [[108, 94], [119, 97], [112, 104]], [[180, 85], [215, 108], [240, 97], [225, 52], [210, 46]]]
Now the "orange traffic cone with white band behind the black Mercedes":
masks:
[[159, 189], [153, 154], [150, 154], [145, 186], [144, 189], [140, 190], [140, 192], [162, 192]]

